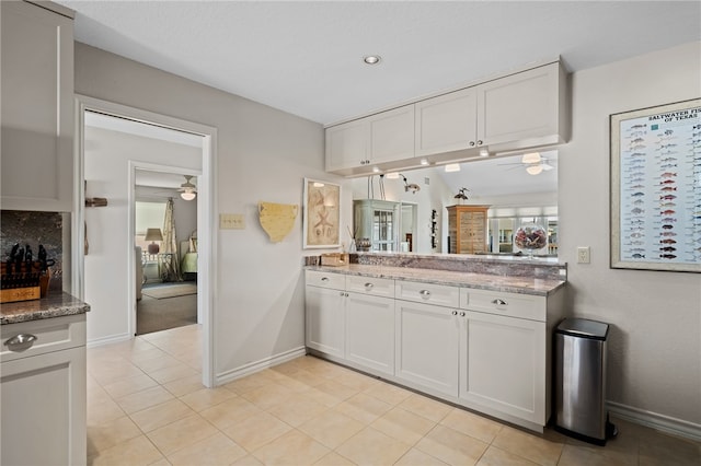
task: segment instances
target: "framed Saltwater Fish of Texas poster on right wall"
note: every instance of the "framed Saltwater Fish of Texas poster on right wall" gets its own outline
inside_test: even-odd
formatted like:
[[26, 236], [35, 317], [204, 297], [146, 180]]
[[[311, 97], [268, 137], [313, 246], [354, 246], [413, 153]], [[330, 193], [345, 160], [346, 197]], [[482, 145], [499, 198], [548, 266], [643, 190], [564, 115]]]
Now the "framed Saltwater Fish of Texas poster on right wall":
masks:
[[701, 272], [701, 98], [610, 125], [611, 268]]

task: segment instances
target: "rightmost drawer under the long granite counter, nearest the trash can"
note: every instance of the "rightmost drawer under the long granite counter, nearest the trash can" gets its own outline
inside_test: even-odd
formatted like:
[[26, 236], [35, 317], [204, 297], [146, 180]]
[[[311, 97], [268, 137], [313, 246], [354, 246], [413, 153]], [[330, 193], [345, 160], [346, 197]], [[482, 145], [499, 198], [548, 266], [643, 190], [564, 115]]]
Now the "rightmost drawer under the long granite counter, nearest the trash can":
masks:
[[545, 322], [545, 296], [461, 288], [460, 307], [495, 315]]

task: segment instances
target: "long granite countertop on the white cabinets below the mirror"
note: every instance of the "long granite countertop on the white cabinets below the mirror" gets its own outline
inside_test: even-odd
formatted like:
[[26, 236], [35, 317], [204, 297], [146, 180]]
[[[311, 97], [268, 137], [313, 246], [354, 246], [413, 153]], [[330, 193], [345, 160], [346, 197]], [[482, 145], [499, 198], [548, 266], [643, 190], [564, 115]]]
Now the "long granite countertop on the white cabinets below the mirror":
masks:
[[547, 296], [566, 281], [543, 278], [473, 273], [423, 268], [404, 268], [348, 264], [342, 267], [308, 266], [308, 270], [346, 273], [361, 277], [389, 278], [394, 280], [421, 281], [425, 283], [469, 287], [482, 290]]

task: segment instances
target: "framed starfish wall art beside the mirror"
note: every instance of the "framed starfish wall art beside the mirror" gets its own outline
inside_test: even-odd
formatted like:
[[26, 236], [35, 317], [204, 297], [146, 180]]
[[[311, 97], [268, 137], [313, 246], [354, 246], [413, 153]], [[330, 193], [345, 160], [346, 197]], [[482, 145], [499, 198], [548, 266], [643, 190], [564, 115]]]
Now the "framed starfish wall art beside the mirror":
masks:
[[341, 246], [341, 186], [304, 178], [304, 249]]

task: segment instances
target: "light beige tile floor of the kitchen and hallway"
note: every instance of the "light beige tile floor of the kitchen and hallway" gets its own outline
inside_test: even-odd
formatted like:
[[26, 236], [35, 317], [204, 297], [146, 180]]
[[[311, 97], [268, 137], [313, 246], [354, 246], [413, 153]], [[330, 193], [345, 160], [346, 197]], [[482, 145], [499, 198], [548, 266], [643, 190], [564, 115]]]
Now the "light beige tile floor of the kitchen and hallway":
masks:
[[91, 465], [699, 465], [620, 419], [606, 447], [537, 435], [313, 358], [207, 389], [197, 325], [88, 350]]

